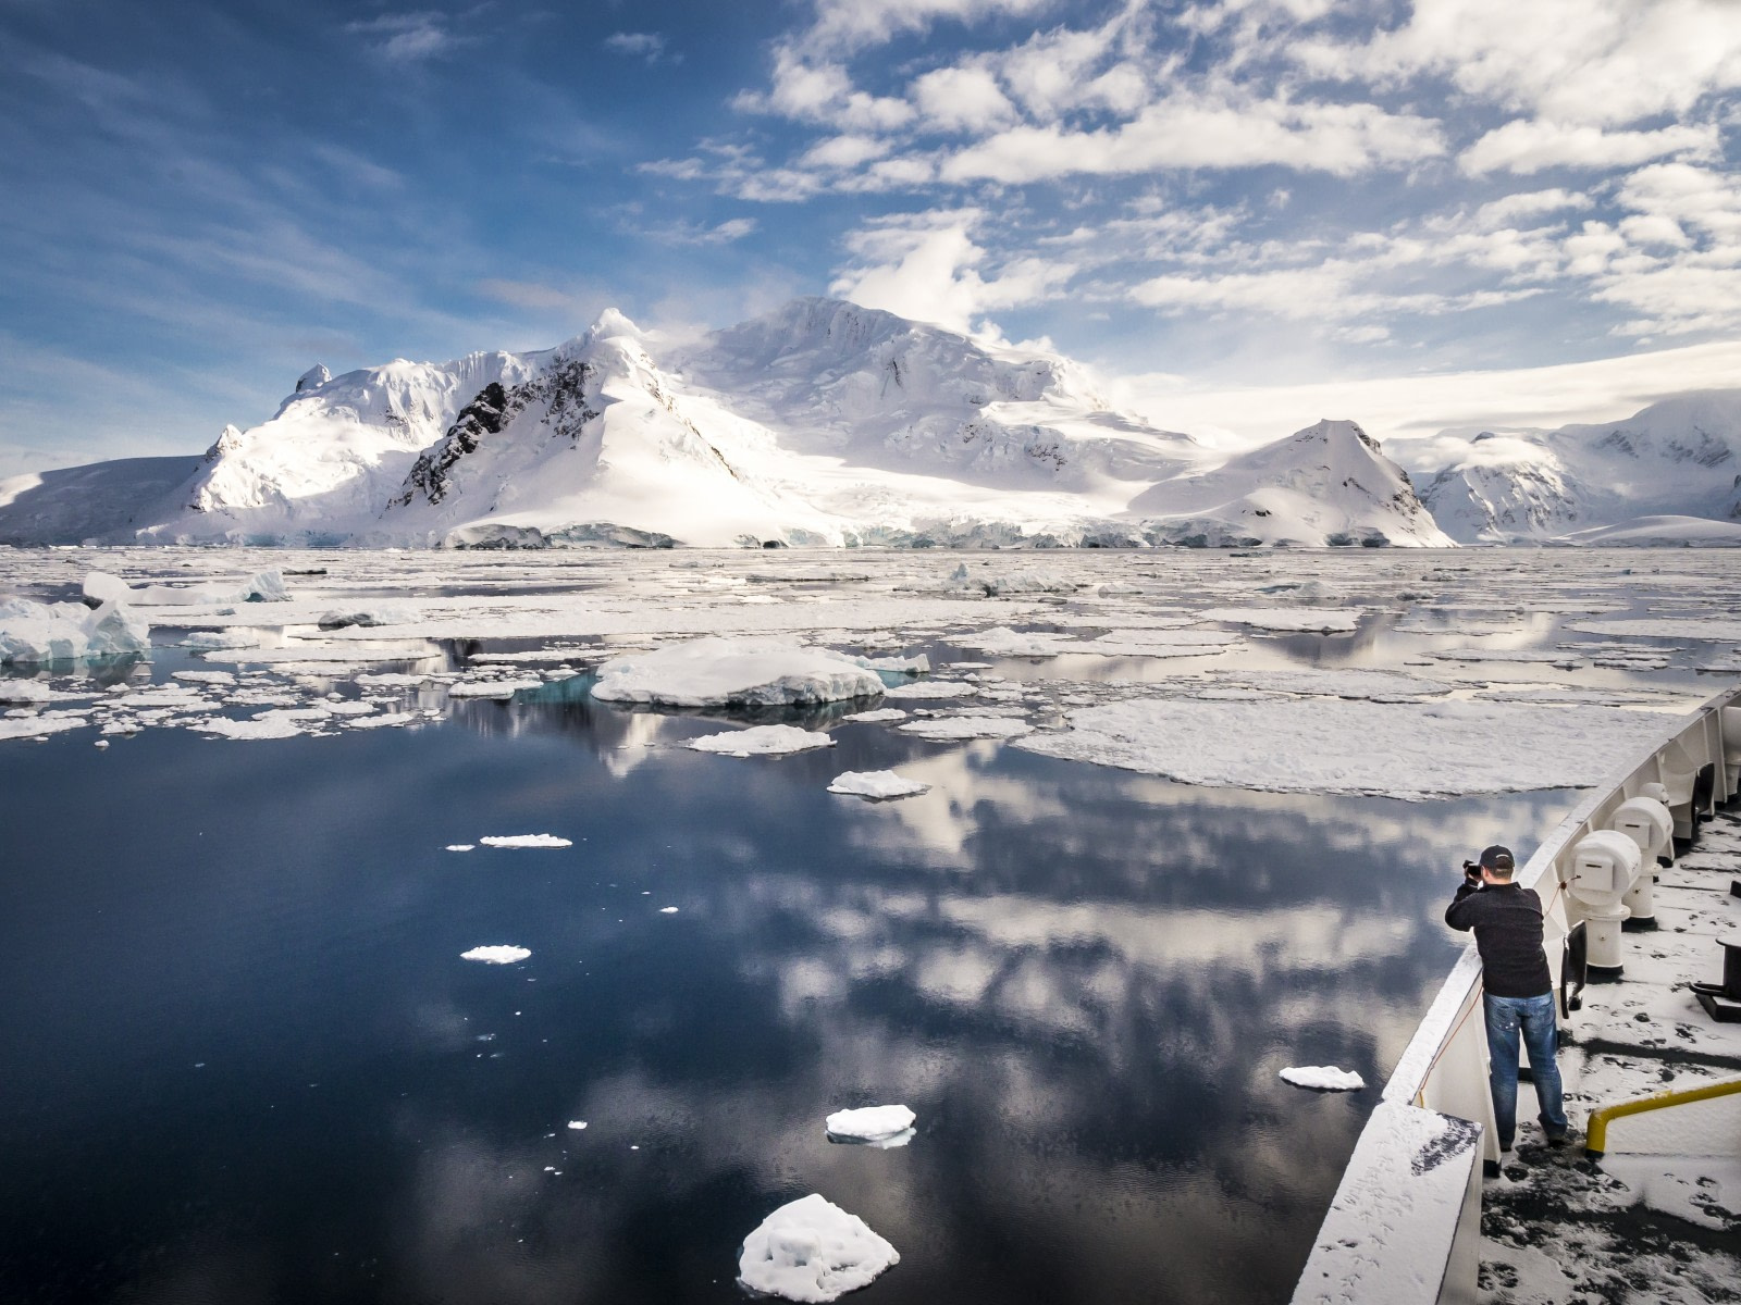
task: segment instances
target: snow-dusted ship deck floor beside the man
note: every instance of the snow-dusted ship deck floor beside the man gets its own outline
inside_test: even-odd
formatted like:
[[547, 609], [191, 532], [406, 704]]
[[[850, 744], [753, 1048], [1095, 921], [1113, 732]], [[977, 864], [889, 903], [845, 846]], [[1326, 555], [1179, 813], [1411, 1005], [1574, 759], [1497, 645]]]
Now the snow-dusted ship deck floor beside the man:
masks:
[[1619, 983], [1584, 990], [1576, 1042], [1562, 1047], [1574, 1141], [1553, 1150], [1518, 1094], [1518, 1145], [1482, 1192], [1482, 1298], [1508, 1305], [1602, 1300], [1741, 1300], [1741, 1164], [1727, 1157], [1583, 1150], [1593, 1108], [1741, 1074], [1741, 1025], [1720, 1025], [1689, 983], [1722, 978], [1717, 936], [1741, 926], [1741, 811], [1703, 826], [1661, 872], [1652, 933], [1624, 936]]

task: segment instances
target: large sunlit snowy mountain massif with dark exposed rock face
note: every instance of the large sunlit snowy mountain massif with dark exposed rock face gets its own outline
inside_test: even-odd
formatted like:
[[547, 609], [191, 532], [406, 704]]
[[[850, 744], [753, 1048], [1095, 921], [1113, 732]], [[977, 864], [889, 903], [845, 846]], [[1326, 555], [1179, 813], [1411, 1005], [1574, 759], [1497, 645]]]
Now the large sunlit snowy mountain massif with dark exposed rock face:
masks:
[[1227, 459], [1067, 358], [832, 299], [682, 348], [606, 311], [538, 353], [313, 367], [176, 484], [70, 512], [28, 480], [0, 485], [0, 541], [1449, 543], [1353, 423]]

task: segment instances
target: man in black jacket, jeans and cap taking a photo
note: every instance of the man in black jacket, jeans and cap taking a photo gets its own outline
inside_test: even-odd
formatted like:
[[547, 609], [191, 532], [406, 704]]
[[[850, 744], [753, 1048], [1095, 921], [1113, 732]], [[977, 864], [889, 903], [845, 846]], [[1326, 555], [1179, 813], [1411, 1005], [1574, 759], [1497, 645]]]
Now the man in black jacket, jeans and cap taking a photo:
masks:
[[1565, 1145], [1569, 1124], [1560, 1088], [1553, 976], [1541, 950], [1541, 898], [1511, 882], [1509, 847], [1487, 847], [1480, 865], [1462, 863], [1462, 887], [1445, 908], [1452, 929], [1475, 929], [1482, 954], [1482, 1013], [1487, 1016], [1487, 1082], [1494, 1094], [1499, 1150], [1511, 1150], [1518, 1122], [1518, 1034], [1529, 1049], [1541, 1131]]

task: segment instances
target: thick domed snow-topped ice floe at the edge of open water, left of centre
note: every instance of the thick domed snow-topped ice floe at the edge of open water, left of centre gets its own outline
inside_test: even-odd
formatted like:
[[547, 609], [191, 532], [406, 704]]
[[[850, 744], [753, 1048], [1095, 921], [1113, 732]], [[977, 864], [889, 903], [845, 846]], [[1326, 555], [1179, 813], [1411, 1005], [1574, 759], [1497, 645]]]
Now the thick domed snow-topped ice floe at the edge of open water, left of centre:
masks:
[[662, 706], [783, 706], [876, 698], [874, 670], [785, 639], [707, 635], [599, 666], [592, 696]]

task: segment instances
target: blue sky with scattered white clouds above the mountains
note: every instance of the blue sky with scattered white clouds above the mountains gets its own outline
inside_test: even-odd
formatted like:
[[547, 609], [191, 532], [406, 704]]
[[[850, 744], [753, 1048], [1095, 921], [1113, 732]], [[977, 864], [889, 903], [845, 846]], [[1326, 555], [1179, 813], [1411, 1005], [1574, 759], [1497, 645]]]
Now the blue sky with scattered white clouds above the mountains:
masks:
[[0, 475], [608, 304], [841, 294], [1241, 437], [1741, 378], [1732, 0], [0, 0]]

